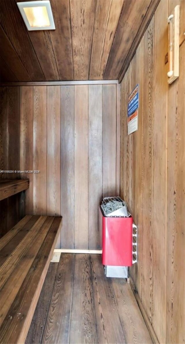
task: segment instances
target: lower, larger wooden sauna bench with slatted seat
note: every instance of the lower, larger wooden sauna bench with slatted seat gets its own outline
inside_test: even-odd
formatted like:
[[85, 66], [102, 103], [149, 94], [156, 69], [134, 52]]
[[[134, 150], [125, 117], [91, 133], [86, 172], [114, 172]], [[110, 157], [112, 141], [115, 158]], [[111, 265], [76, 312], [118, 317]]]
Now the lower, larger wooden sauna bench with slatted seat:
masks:
[[24, 343], [61, 226], [26, 215], [0, 239], [0, 343]]

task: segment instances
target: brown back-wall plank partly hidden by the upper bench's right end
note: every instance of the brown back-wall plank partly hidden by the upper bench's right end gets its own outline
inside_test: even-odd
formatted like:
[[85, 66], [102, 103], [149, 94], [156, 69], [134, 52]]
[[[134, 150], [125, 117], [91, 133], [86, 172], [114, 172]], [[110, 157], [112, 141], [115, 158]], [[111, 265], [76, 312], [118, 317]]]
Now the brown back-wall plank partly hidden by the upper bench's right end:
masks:
[[[33, 170], [33, 86], [20, 87], [20, 170]], [[21, 173], [29, 178], [25, 192], [25, 213], [33, 214], [33, 173]]]

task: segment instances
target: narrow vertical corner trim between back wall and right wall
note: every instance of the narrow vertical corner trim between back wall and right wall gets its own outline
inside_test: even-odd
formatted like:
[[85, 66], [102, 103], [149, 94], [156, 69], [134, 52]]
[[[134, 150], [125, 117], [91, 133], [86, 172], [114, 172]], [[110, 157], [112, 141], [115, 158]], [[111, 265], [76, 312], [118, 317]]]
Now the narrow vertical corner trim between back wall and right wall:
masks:
[[116, 195], [120, 194], [120, 90], [121, 85], [118, 84], [116, 98]]

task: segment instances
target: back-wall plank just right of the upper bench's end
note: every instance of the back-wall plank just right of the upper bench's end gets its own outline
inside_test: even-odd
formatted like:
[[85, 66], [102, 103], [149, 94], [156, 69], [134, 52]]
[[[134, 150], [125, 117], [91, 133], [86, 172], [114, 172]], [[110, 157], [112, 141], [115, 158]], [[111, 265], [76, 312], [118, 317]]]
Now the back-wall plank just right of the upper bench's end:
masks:
[[33, 87], [33, 213], [47, 212], [47, 89]]

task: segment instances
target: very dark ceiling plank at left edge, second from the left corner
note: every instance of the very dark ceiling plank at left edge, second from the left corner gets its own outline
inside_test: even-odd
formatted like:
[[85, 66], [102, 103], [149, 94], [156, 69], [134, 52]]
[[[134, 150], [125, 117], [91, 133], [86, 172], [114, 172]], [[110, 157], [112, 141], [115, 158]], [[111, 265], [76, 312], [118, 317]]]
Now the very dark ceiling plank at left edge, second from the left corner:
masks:
[[31, 81], [31, 77], [22, 64], [19, 55], [14, 50], [8, 36], [4, 32], [3, 28], [0, 28], [0, 39], [1, 39], [1, 57], [6, 64], [11, 67], [15, 78], [19, 81]]

